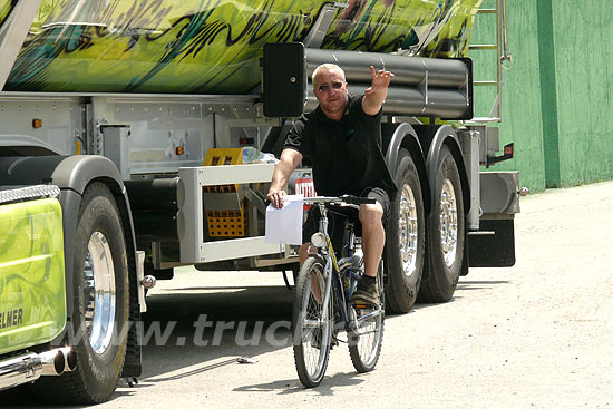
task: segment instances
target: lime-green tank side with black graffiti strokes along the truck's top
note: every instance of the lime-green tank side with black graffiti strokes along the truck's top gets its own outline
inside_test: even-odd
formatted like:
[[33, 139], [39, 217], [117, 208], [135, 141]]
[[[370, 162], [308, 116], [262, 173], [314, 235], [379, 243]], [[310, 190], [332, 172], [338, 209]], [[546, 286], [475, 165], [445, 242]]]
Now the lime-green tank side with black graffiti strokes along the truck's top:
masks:
[[[466, 55], [481, 0], [352, 0], [323, 48]], [[43, 0], [4, 90], [246, 94], [327, 0]]]

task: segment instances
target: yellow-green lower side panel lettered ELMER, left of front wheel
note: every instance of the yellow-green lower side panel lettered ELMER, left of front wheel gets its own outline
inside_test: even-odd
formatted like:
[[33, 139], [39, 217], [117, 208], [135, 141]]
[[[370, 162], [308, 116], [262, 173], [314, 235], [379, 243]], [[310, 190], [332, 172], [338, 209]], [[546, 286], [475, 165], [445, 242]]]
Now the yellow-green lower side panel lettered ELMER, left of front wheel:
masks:
[[66, 324], [61, 207], [0, 206], [0, 354], [52, 340]]

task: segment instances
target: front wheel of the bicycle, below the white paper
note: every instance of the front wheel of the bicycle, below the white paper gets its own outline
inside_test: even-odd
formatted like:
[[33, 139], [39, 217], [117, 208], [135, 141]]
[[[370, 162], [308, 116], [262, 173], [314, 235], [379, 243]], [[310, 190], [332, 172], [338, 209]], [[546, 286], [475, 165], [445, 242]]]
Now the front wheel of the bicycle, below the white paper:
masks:
[[332, 298], [323, 309], [325, 292], [324, 261], [319, 255], [306, 259], [295, 283], [292, 315], [294, 361], [302, 384], [321, 383], [328, 367], [332, 338]]

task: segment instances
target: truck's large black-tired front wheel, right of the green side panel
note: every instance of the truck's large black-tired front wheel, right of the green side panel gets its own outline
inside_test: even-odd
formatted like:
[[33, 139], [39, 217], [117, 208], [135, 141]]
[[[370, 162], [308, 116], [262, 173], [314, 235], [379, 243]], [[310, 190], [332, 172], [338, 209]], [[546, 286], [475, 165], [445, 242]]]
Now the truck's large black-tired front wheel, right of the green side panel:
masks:
[[[97, 256], [100, 251], [106, 256], [109, 255], [108, 252], [110, 253], [113, 265], [110, 263], [96, 265], [94, 261], [103, 260]], [[103, 183], [91, 184], [84, 193], [77, 223], [75, 259], [71, 262], [75, 296], [72, 333], [69, 333], [69, 342], [77, 352], [77, 368], [60, 377], [45, 377], [41, 380], [52, 386], [53, 393], [50, 397], [55, 400], [99, 403], [110, 399], [121, 373], [126, 357], [129, 313], [128, 265], [124, 231], [115, 198]], [[89, 265], [94, 266], [86, 269]], [[114, 281], [115, 285], [115, 313], [103, 313], [103, 309], [99, 308], [101, 304], [97, 304], [94, 296], [94, 289], [101, 290], [103, 284], [91, 285], [94, 283], [91, 277], [96, 277], [98, 273], [109, 272], [110, 267], [113, 272], [108, 274], [108, 282]], [[105, 301], [98, 299], [98, 302]], [[94, 324], [94, 317], [109, 323], [108, 327], [111, 329], [105, 331], [101, 327]], [[96, 337], [96, 332], [94, 338], [91, 337], [93, 328], [100, 329], [100, 337]]]

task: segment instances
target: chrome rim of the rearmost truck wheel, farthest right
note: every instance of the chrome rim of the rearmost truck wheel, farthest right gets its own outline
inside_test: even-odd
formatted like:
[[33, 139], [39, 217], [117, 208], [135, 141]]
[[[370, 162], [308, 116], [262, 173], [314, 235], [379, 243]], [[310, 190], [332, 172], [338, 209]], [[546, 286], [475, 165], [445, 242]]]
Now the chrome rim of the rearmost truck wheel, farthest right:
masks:
[[445, 264], [451, 267], [456, 261], [458, 243], [458, 212], [456, 191], [448, 178], [442, 183], [440, 193], [440, 242]]

